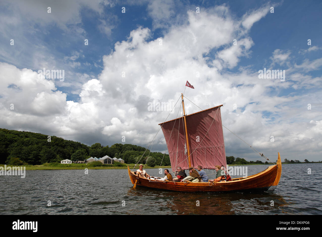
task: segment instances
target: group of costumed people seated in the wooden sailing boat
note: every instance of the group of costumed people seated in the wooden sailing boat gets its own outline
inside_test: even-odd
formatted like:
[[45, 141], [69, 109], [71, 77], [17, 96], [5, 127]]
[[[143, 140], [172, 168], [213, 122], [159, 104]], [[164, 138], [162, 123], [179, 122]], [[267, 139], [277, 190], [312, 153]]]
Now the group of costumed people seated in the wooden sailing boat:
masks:
[[177, 168], [176, 171], [176, 177], [172, 178], [172, 175], [170, 174], [168, 169], [164, 170], [164, 177], [153, 177], [147, 174], [145, 170], [143, 170], [143, 164], [139, 165], [139, 169], [134, 172], [136, 175], [139, 177], [146, 177], [148, 179], [153, 179], [156, 181], [164, 181], [164, 182], [169, 182], [169, 181], [176, 181], [176, 182], [192, 182], [192, 183], [200, 183], [200, 182], [211, 182], [211, 183], [217, 183], [217, 182], [226, 182], [226, 181], [232, 181], [232, 178], [230, 175], [226, 172], [227, 170], [225, 167], [216, 165], [215, 170], [216, 170], [216, 178], [215, 179], [210, 179], [208, 180], [208, 176], [206, 172], [202, 169], [202, 167], [199, 165], [197, 167], [196, 171], [194, 167], [189, 167], [189, 175], [187, 176], [186, 173], [182, 170], [181, 167]]

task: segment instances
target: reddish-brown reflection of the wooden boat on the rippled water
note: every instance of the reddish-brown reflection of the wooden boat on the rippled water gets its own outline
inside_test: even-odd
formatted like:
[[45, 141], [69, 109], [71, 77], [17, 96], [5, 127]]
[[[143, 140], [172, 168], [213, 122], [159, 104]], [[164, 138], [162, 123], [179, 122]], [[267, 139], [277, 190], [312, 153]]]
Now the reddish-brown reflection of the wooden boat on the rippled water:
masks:
[[[128, 191], [129, 196], [139, 196], [150, 214], [282, 214], [288, 206], [281, 195], [266, 192], [188, 193], [168, 192], [137, 186]], [[273, 206], [272, 206], [273, 204]], [[142, 204], [143, 205], [143, 204]], [[148, 213], [148, 212], [147, 212]]]

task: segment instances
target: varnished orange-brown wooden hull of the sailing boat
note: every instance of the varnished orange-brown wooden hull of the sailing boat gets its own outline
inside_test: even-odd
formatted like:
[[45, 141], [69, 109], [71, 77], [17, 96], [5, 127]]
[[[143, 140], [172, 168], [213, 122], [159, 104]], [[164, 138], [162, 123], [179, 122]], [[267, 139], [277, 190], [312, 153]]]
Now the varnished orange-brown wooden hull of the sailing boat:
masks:
[[[266, 170], [245, 178], [233, 179], [230, 182], [218, 183], [183, 183], [163, 182], [137, 177], [128, 167], [128, 175], [132, 184], [148, 188], [163, 189], [180, 192], [236, 192], [236, 191], [268, 191], [272, 192], [279, 183], [282, 171], [280, 155], [277, 165], [271, 165]], [[136, 186], [135, 185], [135, 186]], [[212, 186], [210, 186], [212, 185]]]

